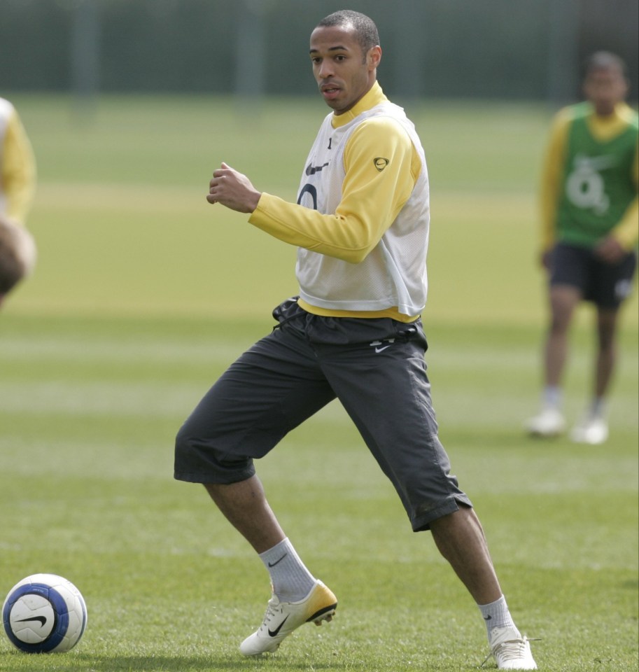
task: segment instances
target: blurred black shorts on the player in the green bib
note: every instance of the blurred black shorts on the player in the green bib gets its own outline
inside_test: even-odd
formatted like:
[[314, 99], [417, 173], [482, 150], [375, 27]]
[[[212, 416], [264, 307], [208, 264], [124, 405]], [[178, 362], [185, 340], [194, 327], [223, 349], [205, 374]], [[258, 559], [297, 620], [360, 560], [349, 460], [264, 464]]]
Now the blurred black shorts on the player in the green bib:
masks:
[[610, 264], [590, 248], [558, 243], [550, 263], [550, 286], [576, 287], [584, 300], [602, 308], [618, 308], [631, 293], [637, 257], [629, 252], [619, 263]]

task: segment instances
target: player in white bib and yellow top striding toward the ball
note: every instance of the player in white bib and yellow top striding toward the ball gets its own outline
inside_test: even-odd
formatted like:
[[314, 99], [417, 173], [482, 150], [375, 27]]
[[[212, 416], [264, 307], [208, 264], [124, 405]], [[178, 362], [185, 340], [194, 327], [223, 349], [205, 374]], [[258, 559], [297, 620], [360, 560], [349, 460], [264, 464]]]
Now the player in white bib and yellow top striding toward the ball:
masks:
[[295, 552], [253, 460], [336, 397], [391, 480], [414, 531], [429, 530], [487, 627], [500, 669], [536, 669], [515, 626], [482, 526], [437, 437], [420, 314], [426, 302], [428, 174], [414, 125], [377, 83], [374, 22], [350, 10], [319, 22], [310, 59], [332, 109], [304, 162], [297, 202], [260, 193], [222, 163], [207, 200], [249, 214], [297, 246], [299, 296], [279, 324], [206, 393], [176, 438], [175, 477], [203, 483], [262, 559], [273, 595], [240, 645], [274, 652], [337, 598]]

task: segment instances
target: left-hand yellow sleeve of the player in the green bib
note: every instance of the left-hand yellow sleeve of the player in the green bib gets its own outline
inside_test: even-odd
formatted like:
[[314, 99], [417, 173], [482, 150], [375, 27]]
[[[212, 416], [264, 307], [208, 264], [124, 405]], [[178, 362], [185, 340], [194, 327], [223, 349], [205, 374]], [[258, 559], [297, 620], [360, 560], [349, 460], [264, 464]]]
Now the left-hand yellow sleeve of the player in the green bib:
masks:
[[563, 182], [564, 156], [571, 120], [572, 116], [567, 109], [560, 111], [555, 117], [542, 164], [540, 188], [542, 252], [552, 248], [555, 241], [559, 190]]

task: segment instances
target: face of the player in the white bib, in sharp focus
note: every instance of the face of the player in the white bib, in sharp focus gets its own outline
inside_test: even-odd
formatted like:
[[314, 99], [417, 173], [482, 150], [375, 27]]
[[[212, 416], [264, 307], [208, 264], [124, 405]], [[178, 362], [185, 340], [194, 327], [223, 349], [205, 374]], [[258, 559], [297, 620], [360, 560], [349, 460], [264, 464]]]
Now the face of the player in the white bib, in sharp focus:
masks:
[[310, 54], [320, 93], [335, 114], [342, 114], [374, 84], [381, 48], [364, 54], [353, 29], [319, 27], [311, 33]]

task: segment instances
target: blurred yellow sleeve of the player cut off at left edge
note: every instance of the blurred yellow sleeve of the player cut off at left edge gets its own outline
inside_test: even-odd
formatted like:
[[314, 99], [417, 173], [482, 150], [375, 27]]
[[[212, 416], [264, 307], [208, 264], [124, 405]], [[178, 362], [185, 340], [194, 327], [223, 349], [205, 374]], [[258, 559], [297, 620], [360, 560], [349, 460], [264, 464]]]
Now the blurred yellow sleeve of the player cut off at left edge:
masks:
[[6, 194], [6, 214], [24, 224], [36, 188], [36, 163], [33, 149], [20, 117], [9, 118], [2, 149], [2, 186]]

